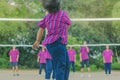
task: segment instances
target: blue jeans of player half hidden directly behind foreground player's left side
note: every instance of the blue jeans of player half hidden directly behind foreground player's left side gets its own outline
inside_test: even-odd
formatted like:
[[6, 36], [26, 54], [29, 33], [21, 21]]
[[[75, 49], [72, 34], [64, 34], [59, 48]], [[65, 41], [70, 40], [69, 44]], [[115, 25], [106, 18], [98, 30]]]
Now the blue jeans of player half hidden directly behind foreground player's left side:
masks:
[[52, 71], [53, 71], [52, 78], [55, 79], [55, 72], [54, 72], [53, 62], [52, 62], [51, 59], [46, 59], [46, 75], [45, 75], [45, 79], [50, 79]]

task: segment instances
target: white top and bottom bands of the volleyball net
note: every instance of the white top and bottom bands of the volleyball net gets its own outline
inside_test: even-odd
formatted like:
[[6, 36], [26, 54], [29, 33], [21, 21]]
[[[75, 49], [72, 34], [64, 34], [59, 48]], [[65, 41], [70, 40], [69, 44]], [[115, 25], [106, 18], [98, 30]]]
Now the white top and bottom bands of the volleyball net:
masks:
[[[0, 21], [2, 22], [37, 22], [42, 19], [35, 19], [35, 18], [0, 18]], [[104, 22], [104, 21], [120, 21], [120, 18], [72, 18], [71, 21], [73, 22]], [[1, 26], [2, 27], [2, 26]], [[107, 26], [106, 26], [107, 27]], [[78, 33], [79, 34], [79, 33]], [[88, 44], [88, 46], [105, 46], [105, 45], [110, 45], [110, 46], [120, 46], [118, 43], [109, 43], [109, 44], [104, 44], [104, 43], [99, 43], [99, 44]], [[0, 47], [11, 47], [13, 45], [11, 44], [0, 44]], [[18, 47], [31, 47], [32, 45], [17, 45]], [[41, 45], [40, 45], [41, 46]], [[70, 45], [68, 45], [70, 46]], [[82, 46], [80, 44], [73, 44], [72, 46]]]

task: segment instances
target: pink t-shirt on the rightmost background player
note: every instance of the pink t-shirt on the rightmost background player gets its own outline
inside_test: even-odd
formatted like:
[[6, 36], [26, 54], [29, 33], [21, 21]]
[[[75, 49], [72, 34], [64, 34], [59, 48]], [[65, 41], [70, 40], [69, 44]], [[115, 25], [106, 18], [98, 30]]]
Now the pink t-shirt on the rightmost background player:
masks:
[[111, 57], [113, 56], [113, 51], [111, 49], [104, 50], [102, 56], [105, 59], [105, 63], [111, 63]]

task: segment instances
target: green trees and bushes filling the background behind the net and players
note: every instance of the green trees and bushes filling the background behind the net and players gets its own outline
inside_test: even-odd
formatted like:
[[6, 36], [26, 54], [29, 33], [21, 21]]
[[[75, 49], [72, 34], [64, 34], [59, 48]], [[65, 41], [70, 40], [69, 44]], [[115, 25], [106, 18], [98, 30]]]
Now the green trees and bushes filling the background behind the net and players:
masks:
[[[12, 3], [13, 1], [14, 3]], [[77, 4], [76, 4], [77, 3]], [[71, 18], [120, 17], [119, 0], [63, 0], [62, 8], [67, 10]], [[45, 10], [39, 0], [1, 0], [1, 18], [43, 18]], [[38, 30], [37, 22], [0, 21], [0, 44], [33, 44]], [[69, 28], [68, 44], [81, 44], [86, 40], [89, 44], [119, 43], [119, 21], [73, 22]], [[44, 38], [44, 36], [43, 36]], [[42, 38], [42, 39], [43, 39]], [[80, 69], [79, 47], [76, 68]], [[20, 67], [37, 68], [37, 52], [31, 48], [18, 47], [20, 50]], [[101, 53], [104, 47], [90, 47], [90, 63], [92, 70], [103, 69]], [[112, 47], [114, 53], [120, 55], [120, 47]], [[9, 67], [10, 48], [0, 47], [1, 68]], [[116, 63], [116, 55], [113, 63]], [[116, 64], [115, 64], [116, 65]], [[115, 66], [116, 67], [116, 66]]]

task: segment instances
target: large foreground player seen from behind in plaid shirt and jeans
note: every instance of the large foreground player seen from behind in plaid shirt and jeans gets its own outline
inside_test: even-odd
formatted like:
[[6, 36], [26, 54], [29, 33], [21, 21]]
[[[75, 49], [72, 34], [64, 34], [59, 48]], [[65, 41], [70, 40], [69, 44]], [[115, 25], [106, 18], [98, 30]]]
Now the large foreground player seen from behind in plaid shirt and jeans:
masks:
[[40, 27], [33, 44], [36, 48], [41, 40], [45, 28], [48, 33], [43, 40], [47, 50], [51, 54], [56, 80], [68, 80], [69, 78], [69, 58], [67, 52], [68, 28], [71, 20], [68, 13], [61, 9], [61, 0], [41, 0], [43, 7], [48, 14], [38, 23]]

